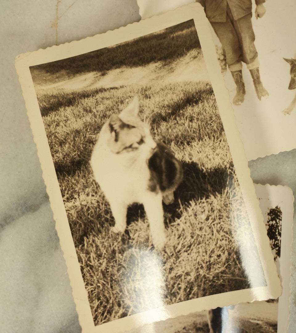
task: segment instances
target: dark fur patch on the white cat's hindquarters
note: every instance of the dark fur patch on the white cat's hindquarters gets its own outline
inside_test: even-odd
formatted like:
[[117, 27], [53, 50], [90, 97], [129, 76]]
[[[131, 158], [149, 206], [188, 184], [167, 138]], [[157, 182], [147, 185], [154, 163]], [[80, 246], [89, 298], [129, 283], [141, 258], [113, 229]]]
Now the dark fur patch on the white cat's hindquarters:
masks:
[[150, 179], [148, 189], [151, 192], [174, 190], [182, 181], [182, 165], [162, 143], [158, 143], [148, 160]]

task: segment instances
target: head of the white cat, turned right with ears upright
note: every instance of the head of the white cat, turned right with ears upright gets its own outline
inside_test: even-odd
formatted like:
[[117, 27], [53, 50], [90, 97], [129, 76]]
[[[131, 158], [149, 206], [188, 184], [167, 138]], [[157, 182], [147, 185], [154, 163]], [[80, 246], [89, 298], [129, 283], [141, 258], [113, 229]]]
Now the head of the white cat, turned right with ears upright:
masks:
[[110, 117], [111, 137], [107, 145], [112, 153], [124, 154], [134, 151], [148, 153], [156, 147], [148, 125], [141, 121], [138, 112], [139, 100], [136, 97], [119, 115], [113, 114]]

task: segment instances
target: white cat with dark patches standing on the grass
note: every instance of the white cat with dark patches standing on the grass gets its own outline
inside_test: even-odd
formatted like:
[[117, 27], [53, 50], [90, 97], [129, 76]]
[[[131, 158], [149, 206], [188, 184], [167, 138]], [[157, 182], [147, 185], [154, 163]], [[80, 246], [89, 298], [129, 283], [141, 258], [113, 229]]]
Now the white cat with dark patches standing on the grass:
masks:
[[154, 142], [138, 112], [135, 97], [119, 115], [110, 117], [99, 134], [91, 166], [109, 200], [115, 218], [113, 230], [124, 232], [128, 206], [143, 203], [153, 245], [161, 250], [166, 243], [162, 199], [166, 204], [174, 201], [173, 191], [183, 172], [168, 148]]

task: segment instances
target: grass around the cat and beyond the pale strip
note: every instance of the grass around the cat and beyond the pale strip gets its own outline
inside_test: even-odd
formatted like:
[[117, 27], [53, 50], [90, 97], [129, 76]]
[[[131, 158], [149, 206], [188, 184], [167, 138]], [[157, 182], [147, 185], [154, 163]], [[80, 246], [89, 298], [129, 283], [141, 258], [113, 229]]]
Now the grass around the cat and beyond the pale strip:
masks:
[[[181, 53], [169, 51], [163, 60], [153, 56], [145, 60], [138, 52], [134, 63], [162, 61], [165, 66], [182, 59], [192, 48], [187, 39], [194, 36], [194, 29], [187, 22], [159, 35], [169, 41], [174, 36], [174, 43], [166, 47], [182, 49]], [[156, 50], [153, 36], [147, 37], [145, 47], [150, 43]], [[137, 43], [125, 43], [121, 52], [134, 53], [143, 44]], [[200, 53], [199, 43], [194, 45]], [[86, 64], [92, 62], [89, 57], [85, 56]], [[117, 58], [106, 61], [109, 67], [102, 65], [98, 71], [116, 64], [133, 66], [122, 65]], [[72, 68], [71, 62], [32, 69], [35, 86], [75, 77], [89, 68]], [[184, 169], [175, 202], [164, 206], [168, 243], [163, 253], [152, 246], [142, 205], [128, 211], [129, 235], [112, 233], [109, 203], [89, 165], [103, 124], [135, 95], [153, 138], [170, 147]], [[235, 239], [250, 230], [250, 224], [210, 83], [158, 80], [145, 86], [40, 90], [37, 97], [96, 325], [163, 303], [248, 287]]]

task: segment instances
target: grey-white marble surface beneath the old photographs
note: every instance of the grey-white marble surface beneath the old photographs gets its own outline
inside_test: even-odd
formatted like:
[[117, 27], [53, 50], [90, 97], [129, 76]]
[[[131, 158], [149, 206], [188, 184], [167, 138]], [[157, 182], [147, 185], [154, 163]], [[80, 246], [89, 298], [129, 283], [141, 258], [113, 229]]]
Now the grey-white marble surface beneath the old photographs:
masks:
[[[14, 58], [138, 21], [139, 8], [136, 0], [12, 0], [1, 5], [0, 332], [80, 332]], [[252, 177], [288, 185], [295, 195], [295, 158], [296, 150], [251, 161]], [[294, 273], [295, 260], [294, 254]], [[293, 305], [290, 333], [295, 317]]]

